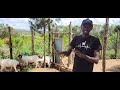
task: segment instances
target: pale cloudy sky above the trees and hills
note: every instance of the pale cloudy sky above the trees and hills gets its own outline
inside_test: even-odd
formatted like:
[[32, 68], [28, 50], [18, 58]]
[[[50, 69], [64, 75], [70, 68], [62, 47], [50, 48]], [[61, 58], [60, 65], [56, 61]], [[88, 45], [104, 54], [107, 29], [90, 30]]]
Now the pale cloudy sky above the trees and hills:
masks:
[[[16, 29], [25, 29], [29, 30], [29, 18], [0, 18], [0, 24], [8, 24], [9, 26], [12, 26]], [[61, 21], [58, 23], [58, 25], [80, 25], [82, 20], [86, 18], [62, 18]], [[105, 18], [89, 18], [93, 21], [94, 24], [105, 24]], [[110, 25], [111, 24], [120, 24], [120, 18], [110, 18], [109, 20]]]

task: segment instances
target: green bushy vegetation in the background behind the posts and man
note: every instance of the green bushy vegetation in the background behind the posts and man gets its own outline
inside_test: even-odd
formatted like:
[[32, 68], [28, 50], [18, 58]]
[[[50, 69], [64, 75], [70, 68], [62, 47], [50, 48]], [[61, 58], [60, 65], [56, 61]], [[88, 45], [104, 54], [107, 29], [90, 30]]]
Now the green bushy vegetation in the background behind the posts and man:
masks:
[[[109, 34], [108, 34], [108, 41], [107, 41], [107, 51], [106, 57], [107, 58], [120, 58], [120, 36], [119, 36], [119, 27], [112, 25], [109, 27]], [[59, 32], [68, 32], [68, 26], [57, 26], [56, 28], [51, 28], [51, 30], [59, 31]], [[94, 25], [94, 29], [91, 32], [91, 35], [94, 35], [100, 39], [102, 43], [103, 37], [103, 26], [102, 25]], [[73, 37], [75, 35], [79, 35], [80, 27], [74, 26], [73, 27]], [[56, 37], [62, 37], [64, 40], [64, 50], [67, 49], [68, 43], [68, 35], [61, 34]], [[46, 48], [46, 55], [48, 55], [48, 45], [49, 34], [46, 31], [45, 35], [45, 48]], [[13, 58], [15, 59], [19, 54], [24, 55], [32, 55], [32, 41], [31, 41], [31, 31], [20, 31], [12, 29], [12, 44], [13, 44]], [[117, 48], [117, 52], [116, 52]], [[34, 54], [41, 54], [44, 56], [44, 37], [38, 32], [35, 32], [34, 37]], [[50, 48], [51, 51], [51, 48]], [[117, 54], [116, 54], [117, 53]], [[6, 29], [5, 25], [0, 25], [0, 59], [10, 58], [9, 55], [9, 38], [8, 38], [8, 30]]]

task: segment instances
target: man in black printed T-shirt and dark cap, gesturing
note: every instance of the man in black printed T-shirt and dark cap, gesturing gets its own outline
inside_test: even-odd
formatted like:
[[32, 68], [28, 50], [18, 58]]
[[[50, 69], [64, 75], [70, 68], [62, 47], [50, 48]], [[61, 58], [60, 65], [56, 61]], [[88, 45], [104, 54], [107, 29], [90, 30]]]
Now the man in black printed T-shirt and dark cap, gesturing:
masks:
[[98, 38], [89, 33], [93, 29], [93, 22], [89, 19], [82, 21], [82, 35], [75, 36], [67, 51], [59, 52], [69, 56], [72, 51], [75, 53], [73, 72], [92, 72], [94, 63], [99, 61], [99, 51], [101, 43]]

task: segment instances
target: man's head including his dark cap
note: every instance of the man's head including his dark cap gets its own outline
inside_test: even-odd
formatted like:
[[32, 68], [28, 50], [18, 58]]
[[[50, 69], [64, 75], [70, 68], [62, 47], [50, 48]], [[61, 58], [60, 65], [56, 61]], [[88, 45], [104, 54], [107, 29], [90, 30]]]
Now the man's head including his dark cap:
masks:
[[81, 30], [83, 35], [89, 35], [90, 31], [93, 29], [93, 22], [90, 19], [85, 19], [82, 21]]

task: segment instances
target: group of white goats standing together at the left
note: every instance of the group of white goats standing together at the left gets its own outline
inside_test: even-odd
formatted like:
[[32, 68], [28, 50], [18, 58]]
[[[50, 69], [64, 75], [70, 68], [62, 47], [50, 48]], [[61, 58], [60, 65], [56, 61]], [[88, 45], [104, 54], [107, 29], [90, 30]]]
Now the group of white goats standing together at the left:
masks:
[[[50, 68], [51, 66], [51, 58], [49, 56], [45, 57], [45, 63]], [[32, 56], [22, 56], [18, 55], [16, 60], [12, 59], [2, 59], [0, 60], [1, 72], [21, 72], [26, 68], [29, 64], [32, 64], [35, 68], [40, 68], [44, 64], [44, 57], [40, 55], [32, 55]]]

